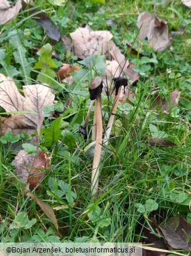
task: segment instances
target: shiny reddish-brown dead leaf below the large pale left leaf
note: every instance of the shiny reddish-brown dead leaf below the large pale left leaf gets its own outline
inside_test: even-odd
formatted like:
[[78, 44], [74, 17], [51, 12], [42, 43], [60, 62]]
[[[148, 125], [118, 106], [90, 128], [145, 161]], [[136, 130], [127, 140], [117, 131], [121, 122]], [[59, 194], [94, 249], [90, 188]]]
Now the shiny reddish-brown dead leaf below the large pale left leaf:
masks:
[[38, 188], [41, 188], [41, 185], [38, 185], [39, 181], [44, 177], [46, 168], [48, 167], [48, 157], [46, 154], [44, 154], [43, 151], [38, 153], [34, 158], [33, 162], [31, 163], [31, 167], [35, 168], [30, 168], [29, 169], [29, 178], [28, 178], [28, 183], [29, 183], [29, 188], [33, 189], [38, 186]]

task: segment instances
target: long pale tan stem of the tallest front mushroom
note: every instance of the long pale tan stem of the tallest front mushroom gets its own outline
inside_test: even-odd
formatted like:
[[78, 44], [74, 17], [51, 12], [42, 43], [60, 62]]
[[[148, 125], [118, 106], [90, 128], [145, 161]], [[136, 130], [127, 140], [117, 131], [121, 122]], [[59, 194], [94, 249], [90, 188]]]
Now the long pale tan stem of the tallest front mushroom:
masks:
[[93, 160], [93, 168], [91, 175], [91, 193], [94, 195], [98, 191], [98, 175], [100, 172], [100, 159], [102, 148], [102, 113], [101, 113], [101, 94], [97, 95], [95, 103], [96, 112], [96, 140], [95, 140], [95, 153]]

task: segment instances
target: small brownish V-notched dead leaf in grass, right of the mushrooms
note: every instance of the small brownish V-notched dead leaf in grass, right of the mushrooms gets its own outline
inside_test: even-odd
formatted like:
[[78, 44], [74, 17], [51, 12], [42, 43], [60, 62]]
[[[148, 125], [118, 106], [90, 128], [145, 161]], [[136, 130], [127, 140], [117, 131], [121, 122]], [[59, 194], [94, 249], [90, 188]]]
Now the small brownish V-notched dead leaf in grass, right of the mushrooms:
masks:
[[171, 94], [169, 95], [169, 103], [168, 103], [167, 99], [163, 98], [159, 94], [155, 94], [152, 108], [162, 110], [162, 111], [164, 110], [169, 111], [171, 108], [178, 106], [180, 96], [181, 96], [181, 91], [178, 91], [178, 89], [175, 89], [175, 91], [171, 92]]

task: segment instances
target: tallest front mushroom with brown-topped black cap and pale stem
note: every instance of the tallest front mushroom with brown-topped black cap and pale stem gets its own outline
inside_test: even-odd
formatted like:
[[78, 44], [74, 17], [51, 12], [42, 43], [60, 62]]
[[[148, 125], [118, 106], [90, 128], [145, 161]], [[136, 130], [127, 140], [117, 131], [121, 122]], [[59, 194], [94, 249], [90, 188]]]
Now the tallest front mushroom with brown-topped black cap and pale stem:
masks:
[[[91, 101], [95, 100], [95, 111], [94, 111], [94, 129], [95, 139], [95, 153], [93, 160], [93, 168], [91, 175], [91, 193], [94, 195], [98, 191], [98, 175], [100, 171], [100, 159], [101, 159], [101, 148], [102, 148], [102, 113], [101, 113], [101, 92], [102, 92], [102, 78], [94, 77], [90, 82], [89, 92]], [[96, 134], [96, 136], [95, 136]]]

